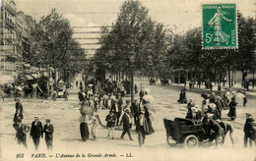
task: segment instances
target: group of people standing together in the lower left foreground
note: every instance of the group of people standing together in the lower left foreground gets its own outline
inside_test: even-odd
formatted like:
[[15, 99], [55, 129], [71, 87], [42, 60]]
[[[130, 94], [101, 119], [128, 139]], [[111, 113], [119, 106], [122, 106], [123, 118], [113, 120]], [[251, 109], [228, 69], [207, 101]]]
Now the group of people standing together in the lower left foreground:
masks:
[[33, 140], [33, 144], [35, 146], [35, 150], [38, 149], [40, 137], [43, 137], [46, 142], [47, 149], [52, 149], [53, 142], [53, 125], [50, 124], [50, 119], [45, 120], [45, 125], [42, 127], [42, 123], [39, 121], [38, 116], [34, 116], [34, 121], [32, 122], [32, 126], [28, 126], [22, 123], [24, 119], [23, 115], [23, 104], [19, 97], [16, 98], [16, 113], [14, 115], [13, 127], [16, 130], [16, 139], [18, 140], [18, 144], [23, 144], [26, 148], [27, 144], [27, 134], [30, 132], [30, 135]]

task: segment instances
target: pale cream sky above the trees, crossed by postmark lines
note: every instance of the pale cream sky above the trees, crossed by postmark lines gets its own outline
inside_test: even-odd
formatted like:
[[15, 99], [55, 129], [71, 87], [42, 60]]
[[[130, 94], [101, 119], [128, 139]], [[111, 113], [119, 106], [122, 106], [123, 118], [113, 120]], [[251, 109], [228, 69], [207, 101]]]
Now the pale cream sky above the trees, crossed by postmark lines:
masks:
[[[74, 37], [98, 37], [98, 34], [76, 33], [98, 31], [100, 26], [110, 26], [117, 18], [120, 6], [125, 0], [16, 0], [17, 11], [31, 15], [36, 21], [50, 13], [52, 8], [67, 18], [74, 28]], [[141, 0], [149, 9], [149, 16], [166, 27], [175, 28], [175, 33], [183, 33], [189, 28], [201, 27], [202, 4], [210, 0]], [[215, 0], [214, 3], [235, 3], [245, 17], [255, 17], [254, 0]], [[96, 40], [78, 40], [82, 43]], [[82, 45], [96, 48], [96, 45]], [[94, 51], [89, 51], [89, 55]]]

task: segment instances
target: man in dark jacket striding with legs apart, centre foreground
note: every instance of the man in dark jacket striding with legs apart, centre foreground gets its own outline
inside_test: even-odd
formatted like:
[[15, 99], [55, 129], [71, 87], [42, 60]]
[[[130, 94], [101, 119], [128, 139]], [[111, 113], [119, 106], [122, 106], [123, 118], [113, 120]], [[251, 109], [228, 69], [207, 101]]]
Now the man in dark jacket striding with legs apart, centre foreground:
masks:
[[131, 126], [132, 126], [132, 119], [129, 115], [130, 113], [130, 109], [126, 109], [125, 110], [125, 113], [122, 117], [122, 120], [121, 120], [121, 123], [120, 123], [120, 126], [123, 124], [123, 133], [121, 134], [120, 138], [121, 139], [124, 139], [124, 134], [128, 134], [130, 140], [133, 140], [132, 136], [131, 136], [131, 133], [130, 133], [130, 129], [131, 129]]

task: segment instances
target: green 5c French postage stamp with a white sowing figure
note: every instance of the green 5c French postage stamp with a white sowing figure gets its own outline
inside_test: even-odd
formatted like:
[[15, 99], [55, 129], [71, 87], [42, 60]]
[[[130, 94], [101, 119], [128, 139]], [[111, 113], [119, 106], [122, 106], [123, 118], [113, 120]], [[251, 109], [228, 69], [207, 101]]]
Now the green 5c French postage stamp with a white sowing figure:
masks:
[[203, 5], [203, 48], [237, 48], [235, 4]]

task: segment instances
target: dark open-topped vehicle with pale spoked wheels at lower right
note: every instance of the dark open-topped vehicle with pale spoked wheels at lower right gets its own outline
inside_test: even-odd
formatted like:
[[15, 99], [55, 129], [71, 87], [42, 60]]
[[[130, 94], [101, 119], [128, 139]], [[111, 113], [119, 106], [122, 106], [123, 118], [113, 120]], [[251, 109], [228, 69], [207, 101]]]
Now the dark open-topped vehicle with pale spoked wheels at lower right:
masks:
[[[183, 143], [184, 147], [197, 147], [199, 142], [210, 139], [205, 134], [202, 124], [195, 124], [190, 119], [175, 118], [174, 121], [163, 119], [164, 128], [166, 130], [166, 140], [168, 145], [174, 146]], [[221, 137], [224, 142], [224, 135]]]

